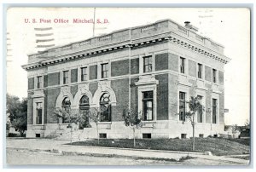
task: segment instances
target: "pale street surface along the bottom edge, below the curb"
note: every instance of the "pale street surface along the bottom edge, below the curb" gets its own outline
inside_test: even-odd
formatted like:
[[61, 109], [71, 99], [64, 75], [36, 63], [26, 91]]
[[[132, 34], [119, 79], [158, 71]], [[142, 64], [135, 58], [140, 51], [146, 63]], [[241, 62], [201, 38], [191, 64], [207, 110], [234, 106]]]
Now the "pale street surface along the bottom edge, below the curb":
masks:
[[7, 163], [14, 165], [177, 165], [170, 161], [133, 158], [104, 158], [94, 156], [60, 155], [47, 152], [7, 149]]

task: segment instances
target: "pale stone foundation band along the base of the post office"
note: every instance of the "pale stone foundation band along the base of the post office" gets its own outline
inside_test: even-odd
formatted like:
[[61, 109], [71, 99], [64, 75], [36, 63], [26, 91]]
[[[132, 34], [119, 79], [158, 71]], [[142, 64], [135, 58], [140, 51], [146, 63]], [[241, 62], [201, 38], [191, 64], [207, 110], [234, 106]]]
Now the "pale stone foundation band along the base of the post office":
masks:
[[[84, 128], [83, 133], [80, 135], [81, 139], [97, 138], [96, 135], [96, 123], [90, 123], [91, 128]], [[36, 137], [36, 134], [40, 134], [40, 137], [55, 138], [67, 132], [67, 123], [48, 123], [44, 127], [29, 125], [26, 131], [26, 137]], [[44, 129], [43, 129], [44, 128]], [[73, 126], [76, 129], [76, 126]], [[132, 139], [133, 133], [130, 127], [126, 127], [124, 122], [111, 122], [111, 123], [99, 123], [99, 134], [107, 134], [108, 139]], [[136, 129], [135, 137], [137, 139], [143, 139], [143, 134], [151, 134], [152, 139], [160, 138], [181, 138], [182, 134], [186, 135], [186, 138], [192, 137], [192, 126], [189, 122], [177, 122], [172, 120], [163, 120], [157, 122], [145, 122], [141, 129]], [[213, 123], [196, 123], [195, 125], [195, 137], [207, 137], [209, 135], [224, 134], [224, 124]]]

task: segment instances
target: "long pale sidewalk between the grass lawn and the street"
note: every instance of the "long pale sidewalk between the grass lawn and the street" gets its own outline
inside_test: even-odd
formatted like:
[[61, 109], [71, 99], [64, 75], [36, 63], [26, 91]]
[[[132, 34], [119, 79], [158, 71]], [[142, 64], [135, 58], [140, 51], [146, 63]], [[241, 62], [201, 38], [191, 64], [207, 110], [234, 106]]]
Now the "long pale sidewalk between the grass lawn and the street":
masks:
[[199, 152], [174, 152], [160, 151], [148, 149], [130, 149], [117, 147], [100, 147], [100, 146], [70, 146], [64, 145], [69, 143], [65, 140], [47, 140], [47, 139], [32, 139], [32, 140], [7, 140], [7, 148], [25, 148], [30, 150], [58, 150], [59, 152], [77, 152], [84, 154], [100, 154], [109, 156], [133, 157], [133, 158], [166, 158], [179, 159], [187, 157], [201, 158], [203, 161], [215, 161], [216, 163], [227, 163], [236, 165], [246, 165], [248, 160], [239, 158], [226, 158], [218, 156], [204, 155]]

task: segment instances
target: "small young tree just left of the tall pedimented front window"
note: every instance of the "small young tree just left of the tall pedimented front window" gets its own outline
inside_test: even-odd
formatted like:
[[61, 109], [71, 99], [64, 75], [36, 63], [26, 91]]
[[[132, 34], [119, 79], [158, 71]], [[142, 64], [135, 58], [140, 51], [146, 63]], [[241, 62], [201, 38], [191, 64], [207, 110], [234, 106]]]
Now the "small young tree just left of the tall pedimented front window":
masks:
[[130, 127], [133, 131], [133, 146], [136, 146], [136, 140], [135, 140], [135, 129], [139, 129], [143, 126], [142, 118], [139, 115], [139, 112], [135, 112], [131, 109], [124, 110], [123, 112], [123, 118], [125, 119], [125, 126]]

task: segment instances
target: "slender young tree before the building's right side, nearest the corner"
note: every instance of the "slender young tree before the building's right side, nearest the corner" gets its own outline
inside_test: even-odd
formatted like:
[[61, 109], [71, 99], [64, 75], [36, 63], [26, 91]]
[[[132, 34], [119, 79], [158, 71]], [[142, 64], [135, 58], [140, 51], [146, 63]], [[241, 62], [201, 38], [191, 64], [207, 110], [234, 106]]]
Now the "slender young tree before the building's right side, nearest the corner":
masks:
[[201, 101], [197, 96], [190, 97], [189, 101], [186, 101], [189, 104], [189, 111], [185, 112], [185, 118], [189, 118], [189, 121], [193, 129], [193, 141], [192, 141], [192, 150], [195, 151], [195, 114], [201, 114], [204, 111], [204, 106], [201, 105]]

